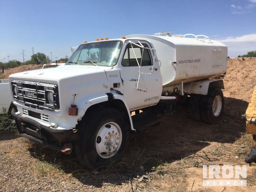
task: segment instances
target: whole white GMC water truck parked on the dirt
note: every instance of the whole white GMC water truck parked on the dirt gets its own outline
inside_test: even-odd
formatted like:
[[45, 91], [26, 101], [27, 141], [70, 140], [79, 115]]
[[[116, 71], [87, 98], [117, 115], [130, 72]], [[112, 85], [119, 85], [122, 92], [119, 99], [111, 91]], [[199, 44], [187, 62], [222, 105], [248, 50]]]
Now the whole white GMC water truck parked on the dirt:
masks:
[[87, 168], [104, 166], [120, 157], [130, 130], [177, 104], [194, 120], [221, 120], [227, 60], [227, 47], [204, 35], [84, 42], [64, 66], [10, 75], [12, 116], [21, 136], [66, 154], [74, 147]]

